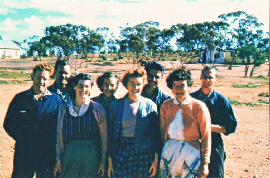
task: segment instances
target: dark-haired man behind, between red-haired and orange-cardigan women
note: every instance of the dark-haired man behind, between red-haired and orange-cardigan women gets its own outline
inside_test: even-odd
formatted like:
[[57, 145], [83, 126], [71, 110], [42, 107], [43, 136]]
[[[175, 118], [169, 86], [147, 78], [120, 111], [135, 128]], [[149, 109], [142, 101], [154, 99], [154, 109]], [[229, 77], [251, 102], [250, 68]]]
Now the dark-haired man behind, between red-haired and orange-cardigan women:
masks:
[[148, 84], [144, 86], [143, 91], [141, 92], [141, 96], [149, 98], [154, 103], [156, 103], [159, 113], [163, 102], [167, 99], [171, 99], [171, 97], [164, 93], [158, 86], [163, 79], [165, 68], [163, 65], [156, 61], [148, 62], [144, 68], [147, 72]]

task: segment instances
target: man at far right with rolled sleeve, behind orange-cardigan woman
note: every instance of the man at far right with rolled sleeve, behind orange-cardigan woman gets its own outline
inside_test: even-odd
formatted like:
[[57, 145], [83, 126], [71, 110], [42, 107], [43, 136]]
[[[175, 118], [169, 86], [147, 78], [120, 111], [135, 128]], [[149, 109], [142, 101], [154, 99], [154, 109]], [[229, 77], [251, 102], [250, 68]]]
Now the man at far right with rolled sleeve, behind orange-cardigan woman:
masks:
[[205, 67], [200, 80], [201, 88], [190, 93], [190, 96], [203, 101], [211, 115], [212, 149], [208, 177], [224, 177], [226, 154], [221, 134], [234, 133], [237, 121], [230, 101], [214, 90], [214, 85], [218, 80], [218, 69], [215, 66]]

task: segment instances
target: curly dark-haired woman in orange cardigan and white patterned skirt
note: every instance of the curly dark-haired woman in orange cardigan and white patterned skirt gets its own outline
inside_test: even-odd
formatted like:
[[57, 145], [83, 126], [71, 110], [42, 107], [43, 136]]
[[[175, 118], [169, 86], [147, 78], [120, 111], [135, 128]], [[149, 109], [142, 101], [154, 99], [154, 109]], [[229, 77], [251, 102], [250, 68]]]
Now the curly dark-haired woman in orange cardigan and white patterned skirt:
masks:
[[158, 176], [206, 177], [211, 154], [208, 109], [203, 102], [189, 96], [188, 88], [193, 80], [187, 68], [170, 73], [166, 82], [175, 98], [166, 100], [160, 109], [164, 147]]

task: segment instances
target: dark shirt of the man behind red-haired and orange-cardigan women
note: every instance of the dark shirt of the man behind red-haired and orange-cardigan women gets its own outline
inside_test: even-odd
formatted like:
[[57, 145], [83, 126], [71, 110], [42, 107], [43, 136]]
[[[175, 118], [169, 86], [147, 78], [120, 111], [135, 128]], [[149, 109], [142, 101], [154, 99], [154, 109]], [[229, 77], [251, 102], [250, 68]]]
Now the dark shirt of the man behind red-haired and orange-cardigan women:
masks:
[[[143, 88], [143, 91], [141, 92], [141, 96], [143, 96], [144, 98], [148, 98], [146, 95], [146, 88]], [[151, 99], [154, 103], [156, 103], [157, 105], [157, 112], [159, 115], [160, 112], [160, 107], [163, 104], [164, 101], [166, 101], [167, 99], [171, 99], [171, 96], [167, 95], [166, 93], [164, 93], [159, 87], [155, 89], [154, 91], [154, 95]]]

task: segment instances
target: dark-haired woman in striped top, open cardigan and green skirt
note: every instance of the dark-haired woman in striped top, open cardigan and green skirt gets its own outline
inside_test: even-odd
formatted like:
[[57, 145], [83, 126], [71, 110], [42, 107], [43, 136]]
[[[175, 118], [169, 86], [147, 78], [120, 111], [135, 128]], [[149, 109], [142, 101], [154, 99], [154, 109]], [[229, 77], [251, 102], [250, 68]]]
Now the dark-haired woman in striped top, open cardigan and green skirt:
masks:
[[60, 177], [104, 175], [107, 151], [106, 111], [89, 99], [93, 79], [80, 73], [71, 82], [75, 99], [59, 109], [56, 165]]

